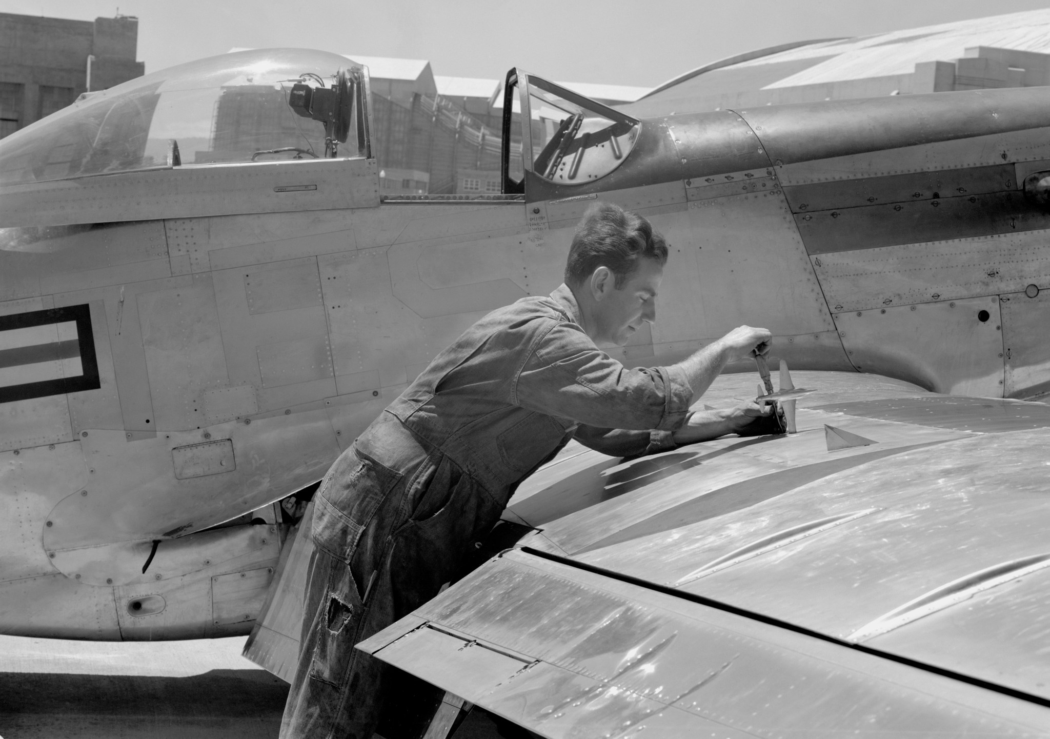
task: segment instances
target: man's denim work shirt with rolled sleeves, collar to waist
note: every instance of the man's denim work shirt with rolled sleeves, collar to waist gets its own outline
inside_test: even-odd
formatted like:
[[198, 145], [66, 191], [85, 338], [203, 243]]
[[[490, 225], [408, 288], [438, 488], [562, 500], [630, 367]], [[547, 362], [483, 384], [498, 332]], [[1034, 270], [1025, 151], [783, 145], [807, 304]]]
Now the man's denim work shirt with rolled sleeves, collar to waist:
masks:
[[505, 501], [573, 437], [616, 457], [673, 448], [692, 395], [677, 367], [602, 352], [562, 284], [483, 317], [386, 410]]

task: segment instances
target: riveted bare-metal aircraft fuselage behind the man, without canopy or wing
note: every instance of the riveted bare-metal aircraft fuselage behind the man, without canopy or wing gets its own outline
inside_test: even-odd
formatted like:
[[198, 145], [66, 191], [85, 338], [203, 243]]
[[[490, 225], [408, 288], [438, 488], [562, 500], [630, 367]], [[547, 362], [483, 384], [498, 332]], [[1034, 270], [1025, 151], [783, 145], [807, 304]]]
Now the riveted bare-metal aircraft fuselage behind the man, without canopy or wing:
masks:
[[481, 315], [555, 288], [600, 198], [670, 245], [627, 364], [749, 323], [793, 368], [1045, 393], [1048, 123], [1044, 88], [671, 114], [609, 174], [474, 198], [381, 198], [368, 157], [0, 188], [0, 631], [247, 633], [272, 504]]

